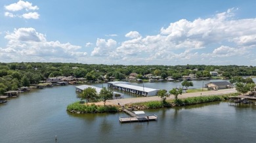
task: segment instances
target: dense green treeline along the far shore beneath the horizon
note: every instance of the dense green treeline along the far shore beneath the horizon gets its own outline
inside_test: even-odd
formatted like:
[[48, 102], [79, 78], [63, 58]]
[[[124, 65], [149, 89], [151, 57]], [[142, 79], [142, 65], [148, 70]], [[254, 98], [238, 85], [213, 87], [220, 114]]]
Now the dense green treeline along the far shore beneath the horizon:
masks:
[[238, 65], [88, 65], [81, 63], [0, 63], [0, 94], [21, 86], [38, 84], [54, 76], [75, 76], [87, 80], [116, 78], [122, 80], [132, 72], [139, 78], [146, 74], [178, 79], [188, 74], [196, 77], [210, 77], [210, 71], [218, 69], [222, 76], [256, 76], [256, 67]]

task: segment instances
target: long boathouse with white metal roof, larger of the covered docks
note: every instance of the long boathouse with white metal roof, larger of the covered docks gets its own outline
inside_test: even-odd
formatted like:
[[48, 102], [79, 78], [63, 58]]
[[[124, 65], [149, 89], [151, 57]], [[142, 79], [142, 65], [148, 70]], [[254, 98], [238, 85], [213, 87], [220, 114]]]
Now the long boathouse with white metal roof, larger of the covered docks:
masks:
[[153, 89], [144, 86], [133, 86], [130, 85], [129, 82], [108, 82], [108, 87], [143, 96], [154, 96], [157, 95], [159, 91], [159, 89]]

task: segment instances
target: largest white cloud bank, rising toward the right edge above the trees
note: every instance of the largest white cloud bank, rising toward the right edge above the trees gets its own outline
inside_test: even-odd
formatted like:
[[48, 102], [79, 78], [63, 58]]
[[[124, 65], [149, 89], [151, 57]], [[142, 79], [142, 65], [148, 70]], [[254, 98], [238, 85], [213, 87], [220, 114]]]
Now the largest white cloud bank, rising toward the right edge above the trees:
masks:
[[[125, 62], [137, 59], [137, 63], [145, 60], [153, 63], [159, 59], [166, 63], [183, 59], [196, 63], [209, 57], [212, 60], [243, 57], [249, 52], [253, 57], [256, 55], [252, 52], [256, 48], [256, 18], [235, 18], [236, 10], [230, 8], [209, 18], [172, 22], [167, 27], [161, 27], [158, 35], [143, 37], [138, 31], [130, 31], [125, 35], [129, 40], [119, 42], [112, 52], [104, 52], [108, 53], [104, 56]], [[98, 46], [91, 55], [95, 56], [105, 49], [105, 46]], [[208, 61], [205, 62], [207, 64]]]

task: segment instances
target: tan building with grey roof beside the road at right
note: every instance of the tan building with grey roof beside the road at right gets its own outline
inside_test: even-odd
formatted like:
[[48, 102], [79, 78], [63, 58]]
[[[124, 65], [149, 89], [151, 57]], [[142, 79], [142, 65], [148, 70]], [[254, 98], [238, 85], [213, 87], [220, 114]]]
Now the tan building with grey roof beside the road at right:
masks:
[[230, 82], [209, 82], [208, 84], [205, 84], [205, 87], [207, 87], [208, 90], [217, 90], [217, 89], [227, 89], [231, 88], [232, 84]]

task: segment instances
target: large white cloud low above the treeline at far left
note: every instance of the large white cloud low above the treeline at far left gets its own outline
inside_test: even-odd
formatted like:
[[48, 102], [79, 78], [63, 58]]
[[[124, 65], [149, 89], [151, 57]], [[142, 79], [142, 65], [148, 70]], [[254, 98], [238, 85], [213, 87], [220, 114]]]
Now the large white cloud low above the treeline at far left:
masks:
[[[75, 60], [77, 57], [87, 56], [87, 52], [81, 52], [81, 46], [75, 46], [56, 41], [47, 41], [46, 36], [37, 32], [32, 27], [14, 29], [7, 32], [8, 40], [6, 48], [0, 48], [0, 53], [5, 53], [11, 61], [47, 61], [47, 59]], [[78, 51], [80, 50], [80, 51]], [[2, 59], [1, 60], [6, 60]]]

